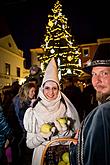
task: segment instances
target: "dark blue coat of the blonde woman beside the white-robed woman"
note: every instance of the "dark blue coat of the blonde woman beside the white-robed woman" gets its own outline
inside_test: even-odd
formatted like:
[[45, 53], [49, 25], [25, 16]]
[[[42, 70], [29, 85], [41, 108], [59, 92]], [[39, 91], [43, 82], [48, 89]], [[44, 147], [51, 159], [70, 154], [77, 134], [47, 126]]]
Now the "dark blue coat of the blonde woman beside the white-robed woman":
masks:
[[21, 164], [26, 164], [26, 165], [31, 164], [32, 154], [33, 154], [33, 150], [30, 150], [26, 146], [26, 131], [25, 131], [24, 125], [23, 125], [24, 113], [25, 113], [26, 109], [30, 107], [30, 104], [31, 104], [30, 99], [20, 102], [19, 95], [16, 95], [13, 98], [13, 103], [11, 105], [13, 112], [15, 112], [15, 116], [16, 116], [17, 129], [14, 129], [14, 130], [15, 130], [15, 134], [16, 134], [17, 146], [19, 149], [19, 153], [17, 154], [17, 156], [19, 156], [18, 162], [19, 162], [19, 164], [21, 163]]

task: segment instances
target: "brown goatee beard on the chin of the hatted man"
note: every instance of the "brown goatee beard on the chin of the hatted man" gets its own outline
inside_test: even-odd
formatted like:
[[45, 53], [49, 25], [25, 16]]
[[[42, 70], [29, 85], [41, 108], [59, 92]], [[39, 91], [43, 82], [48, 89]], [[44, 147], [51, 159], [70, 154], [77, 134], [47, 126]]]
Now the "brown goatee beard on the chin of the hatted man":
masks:
[[96, 100], [99, 101], [100, 103], [105, 102], [108, 96], [110, 96], [110, 93], [108, 94], [108, 93], [96, 92]]

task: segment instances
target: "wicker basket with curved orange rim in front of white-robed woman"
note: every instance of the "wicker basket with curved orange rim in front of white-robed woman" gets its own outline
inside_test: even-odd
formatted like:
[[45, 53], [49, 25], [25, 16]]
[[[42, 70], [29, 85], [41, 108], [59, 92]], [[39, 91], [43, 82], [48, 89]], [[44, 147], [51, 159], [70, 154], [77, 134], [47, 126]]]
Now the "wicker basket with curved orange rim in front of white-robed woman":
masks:
[[58, 138], [50, 141], [42, 154], [41, 165], [58, 165], [62, 160], [64, 153], [69, 153], [70, 162], [70, 145], [76, 144], [77, 140], [73, 138]]

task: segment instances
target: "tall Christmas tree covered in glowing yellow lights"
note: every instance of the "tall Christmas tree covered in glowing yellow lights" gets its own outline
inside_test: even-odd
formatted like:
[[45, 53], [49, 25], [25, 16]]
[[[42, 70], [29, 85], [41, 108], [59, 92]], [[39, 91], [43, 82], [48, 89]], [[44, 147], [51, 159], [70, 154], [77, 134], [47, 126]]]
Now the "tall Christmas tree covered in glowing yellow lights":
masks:
[[68, 19], [62, 14], [62, 5], [57, 0], [51, 14], [48, 15], [44, 43], [41, 45], [44, 55], [39, 55], [38, 59], [43, 63], [45, 70], [50, 58], [54, 56], [62, 76], [67, 74], [81, 75], [79, 47], [72, 39], [67, 21]]

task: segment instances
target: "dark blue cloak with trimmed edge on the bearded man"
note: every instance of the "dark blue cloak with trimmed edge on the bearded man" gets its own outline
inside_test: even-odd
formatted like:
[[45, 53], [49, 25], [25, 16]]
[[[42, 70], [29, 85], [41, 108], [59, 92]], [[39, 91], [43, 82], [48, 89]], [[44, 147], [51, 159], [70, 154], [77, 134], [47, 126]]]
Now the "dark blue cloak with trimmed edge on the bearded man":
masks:
[[110, 165], [110, 99], [82, 123], [77, 151], [77, 165]]

